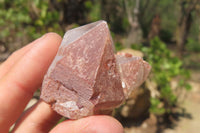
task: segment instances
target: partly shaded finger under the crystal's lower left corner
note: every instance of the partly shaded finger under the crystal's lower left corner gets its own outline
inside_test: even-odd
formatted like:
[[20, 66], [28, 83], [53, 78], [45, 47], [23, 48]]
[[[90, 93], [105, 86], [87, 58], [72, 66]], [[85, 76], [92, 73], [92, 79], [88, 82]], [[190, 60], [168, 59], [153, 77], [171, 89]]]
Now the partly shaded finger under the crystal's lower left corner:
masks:
[[60, 118], [50, 105], [39, 101], [20, 117], [12, 132], [47, 133]]

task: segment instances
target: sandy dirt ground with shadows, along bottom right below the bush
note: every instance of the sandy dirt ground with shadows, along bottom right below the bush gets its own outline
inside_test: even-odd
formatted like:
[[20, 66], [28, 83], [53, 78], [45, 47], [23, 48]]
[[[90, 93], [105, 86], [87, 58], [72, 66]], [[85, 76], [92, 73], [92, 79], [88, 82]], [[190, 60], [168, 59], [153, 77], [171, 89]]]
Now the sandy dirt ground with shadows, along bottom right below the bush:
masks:
[[186, 92], [180, 107], [184, 113], [178, 120], [174, 121], [174, 126], [158, 131], [156, 118], [150, 115], [139, 126], [125, 126], [125, 133], [199, 133], [200, 132], [200, 70], [191, 71], [190, 84], [192, 90]]

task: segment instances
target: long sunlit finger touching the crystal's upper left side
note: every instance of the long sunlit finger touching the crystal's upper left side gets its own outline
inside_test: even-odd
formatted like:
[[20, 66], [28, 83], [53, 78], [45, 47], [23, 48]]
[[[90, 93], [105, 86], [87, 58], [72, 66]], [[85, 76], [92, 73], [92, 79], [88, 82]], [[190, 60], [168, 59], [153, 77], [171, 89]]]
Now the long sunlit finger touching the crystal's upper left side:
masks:
[[8, 129], [16, 121], [33, 92], [41, 85], [60, 42], [61, 37], [57, 34], [46, 34], [0, 80], [0, 127], [3, 127], [2, 130]]

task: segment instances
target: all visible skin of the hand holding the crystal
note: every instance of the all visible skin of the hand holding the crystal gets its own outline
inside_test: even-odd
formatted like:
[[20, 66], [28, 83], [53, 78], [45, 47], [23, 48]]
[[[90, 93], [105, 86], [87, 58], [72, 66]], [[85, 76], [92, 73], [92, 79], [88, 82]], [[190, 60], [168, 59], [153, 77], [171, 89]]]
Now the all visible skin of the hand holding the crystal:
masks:
[[48, 33], [14, 52], [0, 65], [0, 132], [21, 133], [123, 133], [122, 125], [110, 116], [90, 116], [79, 120], [61, 118], [39, 100], [24, 111], [56, 55], [62, 38]]

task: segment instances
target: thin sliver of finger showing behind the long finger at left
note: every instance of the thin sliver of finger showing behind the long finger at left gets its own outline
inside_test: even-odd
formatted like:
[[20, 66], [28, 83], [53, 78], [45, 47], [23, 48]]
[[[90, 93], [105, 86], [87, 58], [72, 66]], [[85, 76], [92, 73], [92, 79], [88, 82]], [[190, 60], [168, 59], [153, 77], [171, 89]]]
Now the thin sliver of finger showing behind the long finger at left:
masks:
[[[41, 37], [42, 38], [42, 37]], [[0, 79], [12, 68], [12, 66], [20, 60], [41, 38], [33, 41], [29, 45], [24, 46], [23, 48], [15, 51], [9, 58], [0, 65]]]

